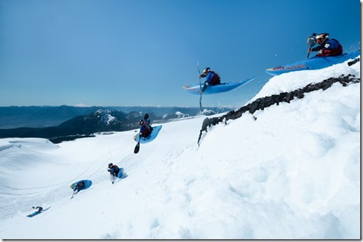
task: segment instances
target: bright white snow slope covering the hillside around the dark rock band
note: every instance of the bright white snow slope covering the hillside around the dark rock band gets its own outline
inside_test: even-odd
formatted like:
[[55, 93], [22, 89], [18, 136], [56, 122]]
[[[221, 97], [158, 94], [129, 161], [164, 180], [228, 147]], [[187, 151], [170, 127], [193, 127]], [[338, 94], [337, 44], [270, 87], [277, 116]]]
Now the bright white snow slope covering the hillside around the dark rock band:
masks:
[[[352, 74], [346, 63], [270, 79], [254, 98]], [[58, 145], [0, 139], [0, 238], [360, 238], [360, 83], [305, 94], [209, 128], [163, 123]], [[154, 123], [155, 124], [155, 123]], [[109, 180], [107, 163], [127, 177]], [[89, 179], [75, 194], [69, 185]], [[27, 218], [32, 206], [51, 209]]]

